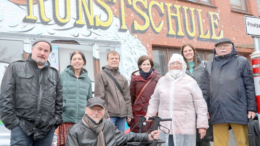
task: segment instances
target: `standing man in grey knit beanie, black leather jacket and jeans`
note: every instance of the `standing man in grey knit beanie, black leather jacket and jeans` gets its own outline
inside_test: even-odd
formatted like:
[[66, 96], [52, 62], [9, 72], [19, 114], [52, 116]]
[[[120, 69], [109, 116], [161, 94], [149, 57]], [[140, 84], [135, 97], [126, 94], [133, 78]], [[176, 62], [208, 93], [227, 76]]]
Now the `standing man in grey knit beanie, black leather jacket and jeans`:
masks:
[[12, 146], [50, 146], [62, 123], [60, 74], [47, 61], [52, 43], [35, 39], [27, 60], [11, 63], [1, 83], [0, 119]]

